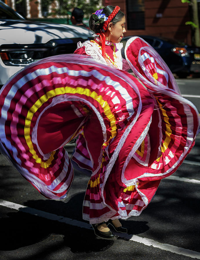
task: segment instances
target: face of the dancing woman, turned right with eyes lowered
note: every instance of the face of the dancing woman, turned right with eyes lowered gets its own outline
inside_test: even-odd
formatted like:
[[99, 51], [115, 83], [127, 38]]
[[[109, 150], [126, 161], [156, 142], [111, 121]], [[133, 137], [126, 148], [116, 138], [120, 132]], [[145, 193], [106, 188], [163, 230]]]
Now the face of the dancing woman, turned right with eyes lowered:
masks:
[[121, 21], [117, 22], [116, 24], [112, 24], [108, 29], [112, 33], [109, 35], [109, 41], [113, 43], [118, 43], [122, 40], [123, 34], [126, 32], [125, 29], [126, 19], [125, 16], [121, 19]]

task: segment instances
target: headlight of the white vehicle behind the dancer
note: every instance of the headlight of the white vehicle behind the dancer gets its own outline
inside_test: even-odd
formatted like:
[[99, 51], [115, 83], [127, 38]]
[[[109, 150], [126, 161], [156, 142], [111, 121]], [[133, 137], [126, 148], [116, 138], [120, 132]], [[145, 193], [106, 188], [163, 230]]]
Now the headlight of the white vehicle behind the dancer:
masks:
[[5, 48], [0, 50], [0, 57], [3, 63], [7, 66], [26, 66], [35, 60], [40, 60], [44, 57], [47, 48], [37, 49], [12, 49]]

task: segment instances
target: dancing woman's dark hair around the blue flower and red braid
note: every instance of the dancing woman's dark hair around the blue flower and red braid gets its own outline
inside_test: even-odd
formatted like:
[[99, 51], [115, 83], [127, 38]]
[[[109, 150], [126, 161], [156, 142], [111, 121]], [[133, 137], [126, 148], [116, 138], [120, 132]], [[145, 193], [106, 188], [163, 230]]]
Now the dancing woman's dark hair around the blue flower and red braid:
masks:
[[[106, 17], [108, 17], [112, 11], [114, 10], [114, 6], [108, 5], [103, 8], [102, 14], [105, 14]], [[121, 19], [124, 17], [124, 13], [119, 10], [119, 12], [114, 16], [114, 18], [111, 20], [111, 23], [116, 24], [117, 22], [121, 21]], [[89, 27], [90, 30], [93, 31], [95, 34], [100, 33], [103, 28], [103, 23], [100, 23], [99, 25], [96, 25], [97, 21], [94, 20], [93, 16], [90, 16], [89, 19]]]

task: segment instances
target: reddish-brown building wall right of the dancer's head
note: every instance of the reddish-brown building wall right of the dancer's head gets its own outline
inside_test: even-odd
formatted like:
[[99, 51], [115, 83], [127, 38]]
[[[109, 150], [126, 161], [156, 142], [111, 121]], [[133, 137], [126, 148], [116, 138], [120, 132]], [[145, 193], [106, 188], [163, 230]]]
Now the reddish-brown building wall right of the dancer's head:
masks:
[[[191, 21], [188, 3], [183, 4], [181, 0], [104, 0], [103, 5], [120, 6], [127, 20], [127, 33], [124, 36], [162, 36], [191, 44], [191, 28], [190, 25], [185, 25]], [[130, 29], [137, 25], [139, 29]]]

